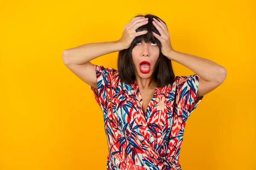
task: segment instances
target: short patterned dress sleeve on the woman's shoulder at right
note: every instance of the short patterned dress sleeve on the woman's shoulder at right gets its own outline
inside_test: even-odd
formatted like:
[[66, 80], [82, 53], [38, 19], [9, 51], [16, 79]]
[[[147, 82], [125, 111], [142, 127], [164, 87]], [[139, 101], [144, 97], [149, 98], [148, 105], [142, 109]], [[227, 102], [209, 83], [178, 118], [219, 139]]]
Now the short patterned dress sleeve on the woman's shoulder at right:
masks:
[[200, 77], [197, 74], [177, 76], [177, 103], [187, 118], [198, 106], [204, 96], [196, 97]]

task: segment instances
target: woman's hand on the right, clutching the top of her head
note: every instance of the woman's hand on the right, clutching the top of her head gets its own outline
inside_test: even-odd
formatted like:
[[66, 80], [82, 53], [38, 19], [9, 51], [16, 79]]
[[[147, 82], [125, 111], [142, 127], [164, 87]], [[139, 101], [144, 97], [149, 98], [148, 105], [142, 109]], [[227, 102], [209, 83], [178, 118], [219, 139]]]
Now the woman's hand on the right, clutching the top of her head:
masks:
[[152, 34], [154, 35], [154, 37], [156, 37], [161, 42], [161, 45], [162, 45], [161, 52], [162, 52], [162, 54], [164, 56], [167, 56], [171, 51], [175, 51], [175, 50], [172, 48], [171, 40], [170, 40], [170, 34], [167, 30], [166, 24], [163, 23], [163, 21], [160, 20], [159, 18], [157, 18], [157, 19], [153, 18], [154, 21], [152, 21], [152, 23], [157, 28], [157, 30], [159, 31], [161, 36], [158, 35], [157, 33], [153, 32], [153, 31], [152, 31]]

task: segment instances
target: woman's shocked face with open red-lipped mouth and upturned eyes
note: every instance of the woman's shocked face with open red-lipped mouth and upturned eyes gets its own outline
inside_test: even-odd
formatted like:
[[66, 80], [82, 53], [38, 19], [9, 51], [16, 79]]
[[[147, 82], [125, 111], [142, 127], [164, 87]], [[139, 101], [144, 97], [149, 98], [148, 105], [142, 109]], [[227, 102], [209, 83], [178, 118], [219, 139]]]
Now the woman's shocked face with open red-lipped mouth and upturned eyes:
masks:
[[[145, 43], [145, 41], [142, 40], [142, 42], [137, 43], [131, 52], [132, 62], [137, 72], [135, 73], [136, 77], [151, 77], [155, 70], [158, 57], [159, 48], [157, 42]], [[143, 61], [148, 62], [148, 64], [142, 64]]]

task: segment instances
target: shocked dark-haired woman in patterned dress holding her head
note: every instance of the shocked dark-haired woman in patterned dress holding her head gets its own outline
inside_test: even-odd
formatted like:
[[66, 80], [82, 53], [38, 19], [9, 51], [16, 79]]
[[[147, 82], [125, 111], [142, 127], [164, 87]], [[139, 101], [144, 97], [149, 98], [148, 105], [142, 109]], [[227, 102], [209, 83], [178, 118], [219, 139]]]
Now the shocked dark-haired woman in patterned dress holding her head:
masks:
[[[115, 51], [118, 71], [90, 63]], [[175, 77], [172, 60], [196, 74]], [[90, 85], [102, 109], [107, 170], [182, 170], [186, 121], [227, 75], [215, 62], [175, 51], [165, 22], [151, 14], [134, 17], [118, 41], [64, 51], [63, 61]]]

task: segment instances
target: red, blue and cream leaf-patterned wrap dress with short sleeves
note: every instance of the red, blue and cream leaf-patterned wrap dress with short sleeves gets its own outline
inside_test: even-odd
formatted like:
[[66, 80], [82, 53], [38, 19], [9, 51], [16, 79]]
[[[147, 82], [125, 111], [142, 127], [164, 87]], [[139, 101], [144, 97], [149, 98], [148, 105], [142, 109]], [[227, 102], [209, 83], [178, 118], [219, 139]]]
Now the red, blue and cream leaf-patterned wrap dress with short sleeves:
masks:
[[145, 114], [136, 81], [121, 83], [118, 71], [94, 65], [109, 153], [107, 170], [182, 170], [179, 164], [186, 120], [204, 96], [196, 98], [200, 77], [176, 76], [156, 88]]

